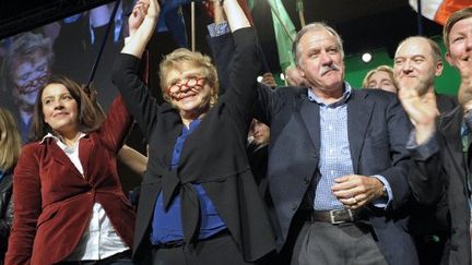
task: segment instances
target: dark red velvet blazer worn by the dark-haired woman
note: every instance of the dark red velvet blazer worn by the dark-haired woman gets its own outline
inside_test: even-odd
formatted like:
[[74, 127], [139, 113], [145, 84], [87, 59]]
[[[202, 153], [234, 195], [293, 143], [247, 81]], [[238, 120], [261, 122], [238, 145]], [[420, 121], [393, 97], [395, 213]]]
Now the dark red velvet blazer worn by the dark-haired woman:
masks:
[[84, 177], [54, 142], [23, 147], [13, 178], [13, 229], [5, 264], [55, 264], [76, 248], [95, 202], [132, 246], [134, 212], [118, 178], [116, 155], [131, 127], [118, 97], [97, 131], [80, 140]]

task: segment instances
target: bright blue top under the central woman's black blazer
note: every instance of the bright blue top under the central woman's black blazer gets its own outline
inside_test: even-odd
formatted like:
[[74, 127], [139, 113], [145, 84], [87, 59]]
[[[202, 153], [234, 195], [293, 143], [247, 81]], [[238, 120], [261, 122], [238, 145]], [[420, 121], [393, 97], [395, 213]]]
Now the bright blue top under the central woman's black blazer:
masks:
[[[198, 128], [200, 121], [200, 119], [197, 119], [190, 122], [189, 129], [187, 129], [187, 127], [182, 127], [181, 134], [177, 138], [174, 146], [170, 164], [172, 168], [176, 168], [178, 166], [184, 143], [190, 135], [190, 133], [192, 133]], [[223, 229], [226, 229], [226, 225], [220, 217], [215, 206], [204, 192], [201, 184], [193, 184], [193, 186], [197, 190], [197, 194], [200, 201], [200, 231], [198, 238], [205, 239]], [[180, 213], [180, 195], [177, 195], [173, 200], [168, 210], [165, 210], [164, 196], [161, 192], [154, 206], [151, 243], [163, 244], [170, 241], [184, 241], [184, 230]]]

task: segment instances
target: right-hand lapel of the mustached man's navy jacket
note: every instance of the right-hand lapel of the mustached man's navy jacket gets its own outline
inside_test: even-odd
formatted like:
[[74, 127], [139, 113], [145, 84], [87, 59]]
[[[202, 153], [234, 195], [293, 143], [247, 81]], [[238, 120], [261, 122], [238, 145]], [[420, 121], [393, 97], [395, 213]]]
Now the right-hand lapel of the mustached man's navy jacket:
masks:
[[353, 88], [347, 99], [347, 137], [354, 172], [358, 172], [361, 150], [375, 105], [367, 97], [367, 93], [356, 92]]

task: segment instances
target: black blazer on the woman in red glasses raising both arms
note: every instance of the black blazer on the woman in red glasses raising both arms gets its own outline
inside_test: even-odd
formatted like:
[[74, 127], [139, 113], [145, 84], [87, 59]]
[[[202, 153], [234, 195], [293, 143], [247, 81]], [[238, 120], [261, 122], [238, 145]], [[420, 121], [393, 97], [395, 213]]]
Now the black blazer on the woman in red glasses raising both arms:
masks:
[[[256, 261], [274, 249], [274, 236], [246, 156], [252, 118], [248, 106], [255, 100], [259, 70], [256, 36], [249, 28], [236, 31], [233, 36], [237, 60], [228, 89], [186, 140], [176, 170], [169, 171], [174, 145], [182, 129], [178, 111], [167, 103], [158, 106], [139, 81], [138, 58], [119, 55], [116, 62], [114, 82], [150, 146], [133, 249], [133, 257], [142, 264], [148, 264], [152, 252], [150, 226], [157, 195], [164, 192], [167, 196], [165, 188], [169, 184], [184, 197], [192, 189], [191, 183], [201, 183], [246, 261]], [[186, 231], [187, 224], [198, 216], [188, 216], [186, 210], [182, 215]]]

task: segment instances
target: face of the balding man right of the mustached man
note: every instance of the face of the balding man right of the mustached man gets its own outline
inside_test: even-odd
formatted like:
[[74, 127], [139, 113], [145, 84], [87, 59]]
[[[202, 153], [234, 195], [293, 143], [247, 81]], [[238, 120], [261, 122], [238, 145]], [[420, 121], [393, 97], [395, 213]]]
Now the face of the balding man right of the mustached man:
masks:
[[[393, 73], [398, 84], [413, 84], [421, 82], [420, 95], [424, 95], [433, 87], [435, 76], [442, 72], [442, 62], [435, 55], [432, 45], [422, 37], [412, 37], [397, 49]], [[408, 86], [404, 86], [408, 88]]]

